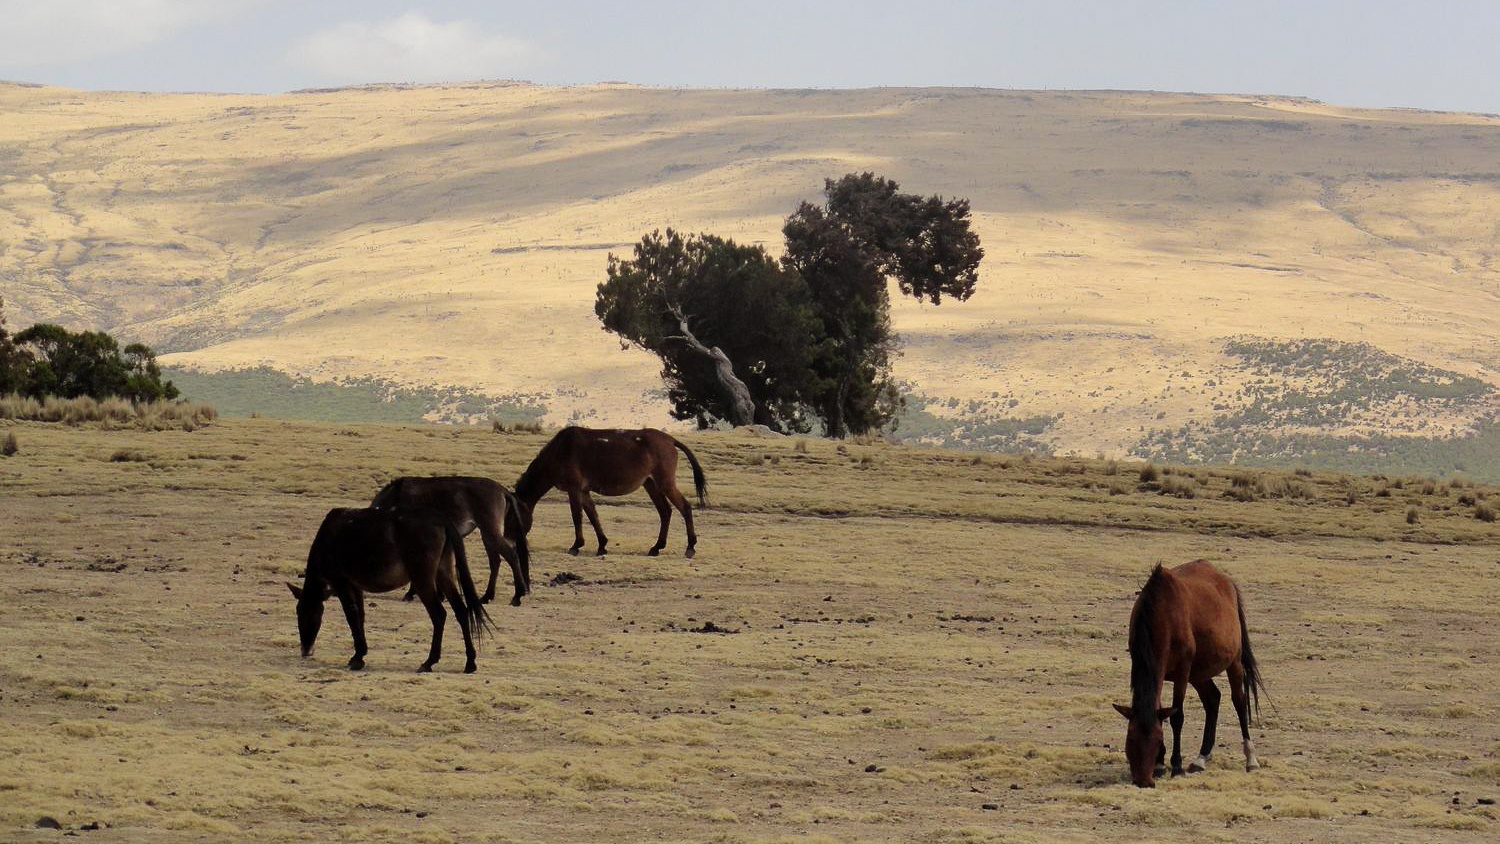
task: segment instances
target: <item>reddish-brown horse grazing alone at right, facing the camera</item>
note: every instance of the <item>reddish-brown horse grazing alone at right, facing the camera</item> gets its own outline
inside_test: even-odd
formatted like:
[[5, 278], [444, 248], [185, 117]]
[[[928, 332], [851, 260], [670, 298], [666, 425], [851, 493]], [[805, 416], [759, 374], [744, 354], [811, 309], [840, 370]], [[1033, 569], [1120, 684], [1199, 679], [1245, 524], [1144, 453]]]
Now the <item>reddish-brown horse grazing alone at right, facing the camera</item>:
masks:
[[[1208, 768], [1218, 729], [1220, 690], [1214, 678], [1228, 672], [1228, 694], [1245, 741], [1245, 771], [1260, 768], [1250, 744], [1250, 706], [1260, 711], [1260, 667], [1250, 649], [1245, 601], [1239, 588], [1206, 559], [1152, 570], [1130, 619], [1131, 705], [1114, 705], [1130, 721], [1125, 759], [1142, 789], [1156, 786], [1167, 748], [1161, 723], [1172, 718], [1172, 775], [1182, 774], [1182, 699], [1188, 684], [1203, 702], [1203, 747], [1188, 772]], [[1172, 681], [1172, 706], [1161, 706], [1161, 687]]]

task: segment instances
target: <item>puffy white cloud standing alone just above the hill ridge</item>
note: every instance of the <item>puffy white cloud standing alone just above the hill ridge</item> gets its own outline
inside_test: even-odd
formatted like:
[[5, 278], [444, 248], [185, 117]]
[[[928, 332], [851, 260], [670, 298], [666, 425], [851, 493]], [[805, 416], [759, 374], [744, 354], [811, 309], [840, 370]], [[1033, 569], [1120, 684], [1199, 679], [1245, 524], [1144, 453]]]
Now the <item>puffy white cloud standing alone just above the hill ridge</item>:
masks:
[[542, 57], [530, 42], [422, 12], [345, 21], [292, 46], [290, 58], [342, 82], [442, 82], [514, 76]]

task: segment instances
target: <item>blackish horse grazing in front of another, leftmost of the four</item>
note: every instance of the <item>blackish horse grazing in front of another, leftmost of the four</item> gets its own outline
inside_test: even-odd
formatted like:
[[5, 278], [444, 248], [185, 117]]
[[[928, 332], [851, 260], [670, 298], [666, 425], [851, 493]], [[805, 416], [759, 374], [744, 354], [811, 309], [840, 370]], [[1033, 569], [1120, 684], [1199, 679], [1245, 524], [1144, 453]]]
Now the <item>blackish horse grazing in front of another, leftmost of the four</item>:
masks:
[[308, 552], [308, 571], [302, 586], [286, 583], [297, 598], [297, 634], [302, 655], [312, 654], [322, 627], [322, 603], [338, 595], [344, 616], [354, 634], [350, 670], [364, 667], [364, 592], [390, 592], [411, 583], [432, 618], [432, 648], [418, 672], [430, 672], [442, 655], [442, 598], [464, 631], [468, 661], [464, 673], [474, 673], [474, 643], [492, 630], [484, 604], [478, 600], [464, 553], [464, 537], [452, 523], [432, 514], [376, 508], [336, 507], [318, 526]]

